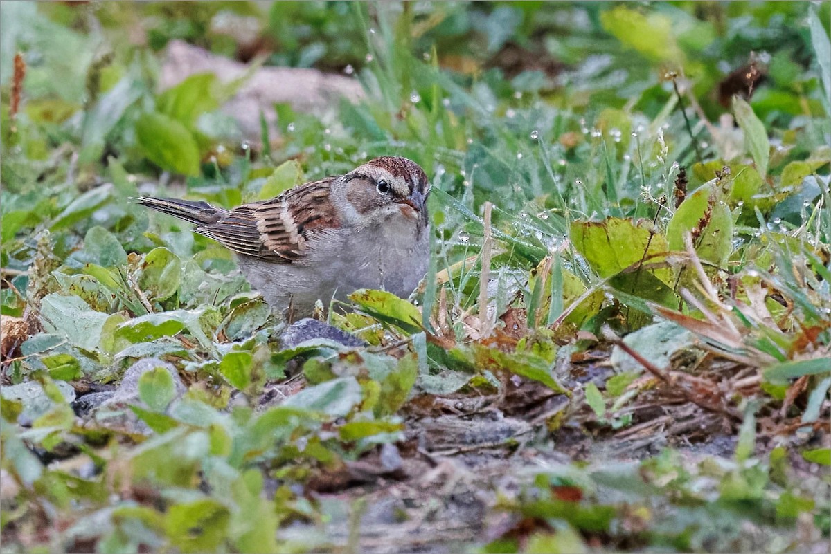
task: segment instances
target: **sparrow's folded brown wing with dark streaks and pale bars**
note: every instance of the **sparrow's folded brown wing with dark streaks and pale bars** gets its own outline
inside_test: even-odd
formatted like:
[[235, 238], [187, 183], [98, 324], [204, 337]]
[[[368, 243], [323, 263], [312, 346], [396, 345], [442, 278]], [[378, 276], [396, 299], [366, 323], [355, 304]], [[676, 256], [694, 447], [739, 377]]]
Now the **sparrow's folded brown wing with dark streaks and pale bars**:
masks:
[[243, 204], [196, 231], [239, 254], [274, 262], [300, 260], [313, 236], [340, 224], [329, 202], [334, 179], [307, 182], [270, 200]]

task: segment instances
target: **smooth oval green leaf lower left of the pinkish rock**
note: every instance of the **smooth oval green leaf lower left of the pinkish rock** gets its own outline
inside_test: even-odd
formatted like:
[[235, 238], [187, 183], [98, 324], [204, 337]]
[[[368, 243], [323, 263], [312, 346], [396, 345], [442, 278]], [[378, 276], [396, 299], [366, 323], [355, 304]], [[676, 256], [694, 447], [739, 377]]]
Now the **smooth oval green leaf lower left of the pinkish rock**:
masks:
[[151, 162], [190, 177], [199, 175], [199, 147], [190, 131], [165, 114], [144, 114], [135, 122], [135, 136]]

